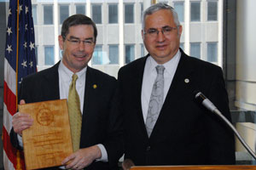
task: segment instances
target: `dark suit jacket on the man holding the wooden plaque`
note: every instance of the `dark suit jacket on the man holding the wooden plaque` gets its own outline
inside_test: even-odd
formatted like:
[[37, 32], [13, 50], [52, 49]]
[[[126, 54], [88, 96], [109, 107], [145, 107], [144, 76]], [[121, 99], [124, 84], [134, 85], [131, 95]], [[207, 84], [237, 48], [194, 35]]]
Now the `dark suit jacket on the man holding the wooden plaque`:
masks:
[[[60, 99], [58, 66], [59, 63], [24, 78], [19, 100], [32, 103]], [[97, 88], [93, 88], [95, 84]], [[108, 162], [94, 161], [88, 169], [116, 169], [123, 154], [122, 120], [117, 107], [116, 87], [114, 77], [87, 67], [80, 148], [103, 144], [108, 153]], [[12, 133], [12, 143], [17, 147], [16, 137]]]

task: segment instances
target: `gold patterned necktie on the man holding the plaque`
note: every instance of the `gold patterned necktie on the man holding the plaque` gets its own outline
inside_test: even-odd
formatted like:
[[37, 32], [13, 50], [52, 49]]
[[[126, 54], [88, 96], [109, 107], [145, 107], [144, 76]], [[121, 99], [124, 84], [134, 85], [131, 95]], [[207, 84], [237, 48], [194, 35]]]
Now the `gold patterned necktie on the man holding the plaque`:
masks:
[[73, 74], [72, 82], [69, 87], [68, 99], [67, 99], [68, 115], [69, 115], [69, 122], [71, 127], [71, 136], [72, 136], [72, 143], [73, 143], [73, 152], [76, 150], [79, 150], [81, 126], [82, 126], [80, 100], [79, 100], [79, 94], [76, 90], [77, 79], [78, 79], [78, 75]]

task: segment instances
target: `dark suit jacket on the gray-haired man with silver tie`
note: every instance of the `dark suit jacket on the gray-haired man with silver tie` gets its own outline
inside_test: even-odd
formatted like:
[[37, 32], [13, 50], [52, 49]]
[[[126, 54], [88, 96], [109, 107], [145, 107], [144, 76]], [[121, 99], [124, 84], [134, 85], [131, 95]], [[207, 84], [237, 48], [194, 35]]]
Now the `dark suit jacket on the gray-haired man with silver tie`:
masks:
[[200, 90], [230, 120], [221, 68], [189, 57], [182, 50], [181, 53], [172, 85], [149, 139], [141, 106], [143, 70], [148, 56], [119, 70], [125, 158], [130, 158], [135, 165], [234, 164], [232, 131], [218, 116], [196, 103], [193, 94], [194, 90]]

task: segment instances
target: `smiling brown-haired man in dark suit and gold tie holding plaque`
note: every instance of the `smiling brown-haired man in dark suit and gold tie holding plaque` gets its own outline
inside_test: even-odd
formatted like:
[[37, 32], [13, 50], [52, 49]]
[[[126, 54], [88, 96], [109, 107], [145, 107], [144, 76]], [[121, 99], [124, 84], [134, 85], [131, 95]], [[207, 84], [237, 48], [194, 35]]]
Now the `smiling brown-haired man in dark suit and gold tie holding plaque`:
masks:
[[[67, 169], [117, 169], [123, 154], [122, 121], [116, 106], [117, 82], [87, 65], [96, 46], [96, 36], [96, 25], [89, 17], [83, 14], [68, 17], [59, 36], [61, 61], [24, 78], [20, 86], [20, 105], [67, 99], [73, 139], [73, 154], [62, 161]], [[71, 112], [78, 113], [71, 115]], [[17, 112], [13, 116], [11, 138], [16, 148], [22, 148], [22, 131], [34, 121], [26, 113]], [[52, 167], [55, 168], [58, 167]]]

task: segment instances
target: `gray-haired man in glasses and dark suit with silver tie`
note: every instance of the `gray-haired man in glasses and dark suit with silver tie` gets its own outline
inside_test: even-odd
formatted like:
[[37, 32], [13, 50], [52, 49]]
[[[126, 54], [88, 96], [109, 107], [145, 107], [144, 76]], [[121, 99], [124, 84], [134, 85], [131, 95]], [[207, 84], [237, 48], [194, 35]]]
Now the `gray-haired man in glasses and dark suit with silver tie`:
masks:
[[195, 103], [193, 94], [206, 94], [230, 120], [223, 73], [184, 54], [179, 48], [182, 31], [167, 4], [154, 4], [143, 14], [148, 55], [122, 67], [118, 77], [125, 160], [137, 166], [234, 164], [233, 133]]

